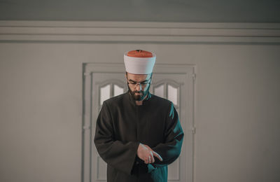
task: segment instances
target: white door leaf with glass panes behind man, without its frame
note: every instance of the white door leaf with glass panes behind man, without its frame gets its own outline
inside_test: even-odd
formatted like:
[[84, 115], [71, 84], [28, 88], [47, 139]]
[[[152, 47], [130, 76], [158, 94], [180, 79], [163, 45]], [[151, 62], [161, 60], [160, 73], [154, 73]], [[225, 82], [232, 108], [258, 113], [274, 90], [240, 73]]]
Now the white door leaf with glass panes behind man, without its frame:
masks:
[[[185, 78], [184, 74], [176, 74], [176, 75], [166, 75], [166, 74], [153, 74], [153, 82], [151, 84], [151, 93], [158, 90], [160, 92], [160, 96], [163, 96], [174, 103], [174, 106], [177, 111], [180, 112], [180, 90], [183, 86], [183, 79]], [[102, 108], [102, 104], [104, 100], [109, 99], [110, 97], [116, 96], [117, 94], [123, 94], [123, 92], [127, 91], [127, 83], [125, 81], [124, 73], [92, 73], [92, 136], [94, 136], [95, 132], [95, 122], [98, 116], [100, 109]], [[98, 109], [98, 110], [97, 110]], [[180, 116], [181, 118], [181, 116]], [[181, 120], [181, 124], [183, 122]], [[184, 151], [182, 151], [183, 155]], [[183, 156], [169, 165], [168, 169], [168, 179], [169, 181], [180, 181], [182, 180], [183, 171], [181, 172], [180, 162]], [[104, 181], [106, 180], [106, 163], [99, 157], [96, 148], [92, 151], [92, 179], [94, 181]], [[94, 175], [94, 173], [97, 173]], [[181, 173], [180, 173], [181, 172]]]

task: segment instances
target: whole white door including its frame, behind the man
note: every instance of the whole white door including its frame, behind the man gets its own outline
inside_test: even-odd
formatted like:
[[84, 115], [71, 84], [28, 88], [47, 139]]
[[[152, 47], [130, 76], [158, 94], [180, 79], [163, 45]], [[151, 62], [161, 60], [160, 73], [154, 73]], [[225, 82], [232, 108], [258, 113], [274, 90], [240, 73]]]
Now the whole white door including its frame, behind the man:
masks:
[[[98, 69], [99, 66], [100, 69]], [[120, 68], [123, 65], [111, 65], [115, 68], [113, 69], [114, 72], [110, 71], [109, 65], [103, 66], [104, 68], [101, 69], [101, 64], [97, 66], [87, 64], [84, 70], [85, 113], [83, 117], [82, 180], [85, 182], [106, 181], [106, 162], [99, 157], [93, 142], [95, 124], [104, 100], [127, 92], [125, 71]], [[95, 71], [92, 70], [93, 68]], [[185, 68], [185, 72], [179, 71], [176, 73], [176, 71], [173, 71], [172, 73], [168, 66], [155, 65], [150, 87], [152, 94], [173, 102], [185, 133], [181, 156], [168, 167], [168, 181], [193, 181], [193, 116], [187, 116], [188, 114], [193, 115], [194, 69], [193, 66], [185, 66]], [[188, 97], [190, 97], [189, 100]], [[186, 148], [188, 148], [188, 151]]]

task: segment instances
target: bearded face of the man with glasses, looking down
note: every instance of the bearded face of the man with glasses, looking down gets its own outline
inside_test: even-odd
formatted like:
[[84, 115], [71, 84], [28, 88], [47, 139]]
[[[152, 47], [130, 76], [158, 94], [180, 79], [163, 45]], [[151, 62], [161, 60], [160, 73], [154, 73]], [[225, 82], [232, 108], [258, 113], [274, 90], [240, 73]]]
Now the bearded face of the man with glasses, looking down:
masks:
[[[143, 100], [148, 94], [151, 83], [151, 74], [132, 74], [127, 73], [127, 85], [130, 94], [136, 101]], [[141, 84], [140, 84], [141, 83]]]

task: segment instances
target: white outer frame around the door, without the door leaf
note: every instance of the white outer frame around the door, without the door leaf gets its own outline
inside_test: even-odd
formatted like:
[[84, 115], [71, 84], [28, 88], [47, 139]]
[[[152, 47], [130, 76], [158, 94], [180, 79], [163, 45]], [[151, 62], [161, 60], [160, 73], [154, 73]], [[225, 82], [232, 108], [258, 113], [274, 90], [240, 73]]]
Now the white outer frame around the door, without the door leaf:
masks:
[[[92, 182], [92, 73], [125, 73], [125, 65], [120, 63], [83, 63], [83, 117], [82, 117], [82, 167], [81, 181]], [[183, 127], [186, 144], [186, 182], [193, 182], [194, 176], [194, 137], [195, 137], [195, 64], [155, 64], [153, 73], [186, 74], [186, 125]]]

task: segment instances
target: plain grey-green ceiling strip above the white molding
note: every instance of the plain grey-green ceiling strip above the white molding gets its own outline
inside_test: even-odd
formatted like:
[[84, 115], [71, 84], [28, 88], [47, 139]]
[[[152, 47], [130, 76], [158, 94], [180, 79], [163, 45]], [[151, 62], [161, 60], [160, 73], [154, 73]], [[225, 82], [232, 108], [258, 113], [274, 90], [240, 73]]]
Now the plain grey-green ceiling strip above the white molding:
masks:
[[0, 20], [280, 22], [279, 0], [0, 0]]

